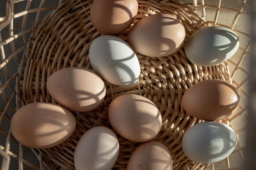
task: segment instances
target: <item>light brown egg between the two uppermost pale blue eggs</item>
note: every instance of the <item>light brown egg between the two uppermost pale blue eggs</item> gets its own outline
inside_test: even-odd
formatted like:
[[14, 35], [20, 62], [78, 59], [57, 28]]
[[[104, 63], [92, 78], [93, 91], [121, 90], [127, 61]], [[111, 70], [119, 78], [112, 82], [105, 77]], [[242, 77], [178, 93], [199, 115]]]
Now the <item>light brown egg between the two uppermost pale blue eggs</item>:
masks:
[[163, 57], [179, 50], [185, 35], [185, 28], [179, 18], [157, 13], [134, 25], [129, 33], [128, 43], [142, 55]]

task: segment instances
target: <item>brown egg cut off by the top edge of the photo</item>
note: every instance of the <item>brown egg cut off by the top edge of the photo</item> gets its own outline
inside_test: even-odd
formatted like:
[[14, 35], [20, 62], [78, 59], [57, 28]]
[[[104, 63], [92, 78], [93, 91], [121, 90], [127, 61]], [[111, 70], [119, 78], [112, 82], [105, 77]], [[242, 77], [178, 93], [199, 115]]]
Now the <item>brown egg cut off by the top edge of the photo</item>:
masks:
[[93, 27], [102, 34], [118, 34], [132, 24], [137, 13], [137, 0], [94, 0], [90, 18]]

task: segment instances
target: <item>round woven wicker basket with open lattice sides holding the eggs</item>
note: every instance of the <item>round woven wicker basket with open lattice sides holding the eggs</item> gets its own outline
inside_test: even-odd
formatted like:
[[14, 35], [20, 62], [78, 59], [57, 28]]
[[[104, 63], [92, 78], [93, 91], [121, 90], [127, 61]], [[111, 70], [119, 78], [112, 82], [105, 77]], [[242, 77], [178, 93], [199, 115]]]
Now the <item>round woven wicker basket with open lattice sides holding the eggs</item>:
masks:
[[[39, 160], [37, 164], [30, 159], [31, 156], [26, 158], [33, 153], [27, 147], [17, 144], [9, 130], [13, 113], [21, 106], [35, 101], [54, 103], [45, 88], [47, 78], [63, 67], [92, 69], [88, 48], [92, 40], [100, 36], [90, 22], [92, 0], [51, 1], [51, 4], [54, 3], [54, 7], [45, 7], [45, 4], [49, 4], [45, 0], [41, 0], [39, 6], [31, 0], [8, 0], [6, 17], [0, 18], [0, 132], [1, 139], [4, 139], [0, 140], [2, 169], [15, 169], [13, 165], [17, 164], [19, 169], [74, 169], [73, 155], [77, 141], [91, 127], [110, 127], [108, 104], [121, 94], [140, 94], [152, 100], [159, 108], [163, 127], [155, 139], [164, 143], [172, 153], [174, 169], [237, 169], [241, 166], [239, 162], [243, 160], [248, 98], [246, 66], [250, 48], [250, 34], [244, 28], [249, 7], [242, 0], [233, 1], [234, 6], [227, 6], [227, 0], [201, 0], [200, 4], [196, 4], [196, 0], [186, 2], [187, 4], [177, 0], [139, 1], [139, 13], [134, 23], [153, 13], [174, 13], [186, 27], [186, 39], [200, 27], [221, 25], [229, 27], [239, 35], [241, 46], [230, 60], [212, 67], [191, 64], [186, 59], [183, 47], [168, 57], [151, 58], [138, 55], [141, 66], [139, 83], [133, 87], [116, 87], [105, 82], [107, 91], [102, 106], [88, 113], [73, 112], [77, 128], [68, 141], [54, 148], [31, 149]], [[22, 4], [26, 6], [23, 11], [15, 10], [15, 7]], [[47, 13], [49, 14], [46, 15]], [[29, 25], [31, 20], [33, 24]], [[120, 34], [120, 38], [126, 40], [129, 29]], [[207, 79], [229, 81], [241, 95], [241, 104], [236, 113], [221, 120], [236, 130], [239, 142], [230, 157], [216, 164], [193, 162], [184, 155], [181, 148], [184, 132], [201, 122], [184, 113], [180, 106], [182, 94], [198, 81]], [[127, 141], [120, 136], [118, 139], [120, 155], [113, 169], [125, 169], [131, 153], [140, 143]]]

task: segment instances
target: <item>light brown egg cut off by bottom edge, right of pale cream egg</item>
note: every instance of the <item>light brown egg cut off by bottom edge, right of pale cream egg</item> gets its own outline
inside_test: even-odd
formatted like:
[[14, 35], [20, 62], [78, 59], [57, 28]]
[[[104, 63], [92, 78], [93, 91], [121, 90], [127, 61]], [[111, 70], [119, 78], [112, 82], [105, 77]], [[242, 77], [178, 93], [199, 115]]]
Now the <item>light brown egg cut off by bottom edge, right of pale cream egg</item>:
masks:
[[172, 170], [173, 161], [168, 148], [158, 141], [143, 143], [132, 153], [127, 170]]

